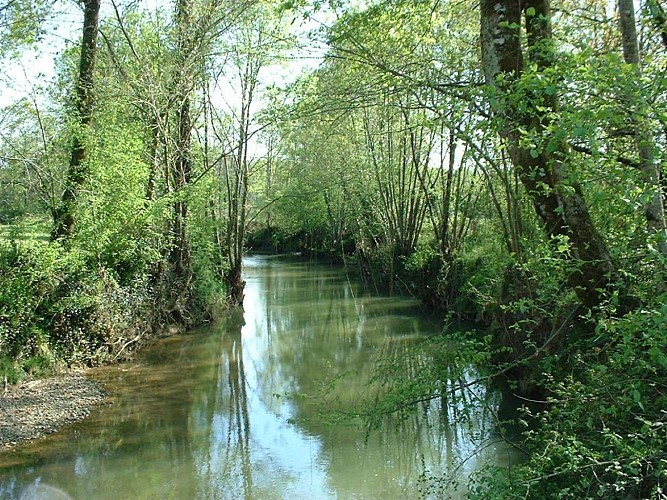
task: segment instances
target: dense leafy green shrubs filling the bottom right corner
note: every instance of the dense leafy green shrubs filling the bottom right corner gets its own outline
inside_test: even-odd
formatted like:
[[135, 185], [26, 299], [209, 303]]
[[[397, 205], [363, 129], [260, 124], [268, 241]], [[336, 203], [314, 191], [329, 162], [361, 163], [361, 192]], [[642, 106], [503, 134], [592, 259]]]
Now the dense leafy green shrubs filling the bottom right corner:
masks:
[[[480, 498], [660, 498], [667, 481], [667, 307], [598, 323], [570, 375], [548, 377], [549, 397], [527, 411], [531, 458], [486, 475]], [[501, 478], [502, 477], [502, 478]]]

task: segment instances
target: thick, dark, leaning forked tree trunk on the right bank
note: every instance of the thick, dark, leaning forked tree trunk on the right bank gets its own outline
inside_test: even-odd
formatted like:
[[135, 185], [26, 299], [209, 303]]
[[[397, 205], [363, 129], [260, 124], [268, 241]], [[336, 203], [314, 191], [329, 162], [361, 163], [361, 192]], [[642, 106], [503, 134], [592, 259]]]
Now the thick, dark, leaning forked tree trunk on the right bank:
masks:
[[[551, 66], [554, 54], [549, 1], [482, 0], [482, 66], [486, 82], [494, 92], [490, 102], [510, 159], [546, 234], [550, 239], [568, 241], [578, 267], [569, 275], [570, 285], [583, 305], [594, 307], [604, 298], [613, 266], [581, 187], [568, 180], [570, 155], [566, 142], [546, 137], [552, 123], [550, 115], [557, 111], [555, 83], [523, 90], [527, 95], [511, 95], [521, 91], [515, 83], [524, 75], [522, 14], [526, 20], [528, 58], [536, 71], [549, 79], [545, 70]], [[522, 140], [526, 131], [535, 138], [535, 144]]]

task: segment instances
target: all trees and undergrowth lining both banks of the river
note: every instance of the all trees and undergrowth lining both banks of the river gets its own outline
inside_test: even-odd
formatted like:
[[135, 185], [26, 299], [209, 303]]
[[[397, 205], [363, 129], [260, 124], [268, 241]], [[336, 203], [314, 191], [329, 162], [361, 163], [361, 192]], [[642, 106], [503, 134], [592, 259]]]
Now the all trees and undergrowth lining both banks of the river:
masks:
[[[82, 5], [0, 115], [5, 377], [241, 304], [248, 248], [317, 253], [489, 325], [457, 362], [536, 404], [526, 462], [473, 494], [664, 496], [661, 1]], [[0, 2], [1, 55], [55, 7]], [[432, 359], [380, 413], [445, 390]]]

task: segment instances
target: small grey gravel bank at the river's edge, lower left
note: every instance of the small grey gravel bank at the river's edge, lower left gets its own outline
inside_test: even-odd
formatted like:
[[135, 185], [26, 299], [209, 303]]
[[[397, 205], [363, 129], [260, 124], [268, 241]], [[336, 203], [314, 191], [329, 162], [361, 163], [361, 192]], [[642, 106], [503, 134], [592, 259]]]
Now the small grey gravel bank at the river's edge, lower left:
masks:
[[7, 386], [0, 393], [0, 453], [83, 420], [105, 396], [80, 372]]

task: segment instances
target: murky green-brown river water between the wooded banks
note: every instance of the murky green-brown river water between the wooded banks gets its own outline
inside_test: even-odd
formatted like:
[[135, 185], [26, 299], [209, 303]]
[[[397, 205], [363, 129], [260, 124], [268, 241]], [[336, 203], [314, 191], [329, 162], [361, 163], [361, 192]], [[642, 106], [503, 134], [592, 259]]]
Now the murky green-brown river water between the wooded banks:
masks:
[[[439, 330], [415, 301], [271, 257], [248, 258], [245, 279], [245, 311], [96, 370], [108, 405], [0, 455], [0, 498], [457, 498], [462, 487], [426, 490], [424, 477], [465, 483], [485, 462], [508, 464], [488, 410], [498, 397], [483, 387], [467, 408], [433, 401], [370, 435], [327, 422], [367, 396], [380, 360]], [[463, 410], [473, 425], [456, 424]]]

